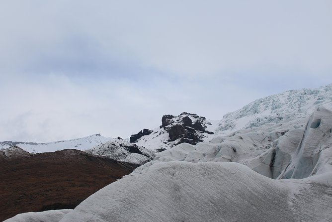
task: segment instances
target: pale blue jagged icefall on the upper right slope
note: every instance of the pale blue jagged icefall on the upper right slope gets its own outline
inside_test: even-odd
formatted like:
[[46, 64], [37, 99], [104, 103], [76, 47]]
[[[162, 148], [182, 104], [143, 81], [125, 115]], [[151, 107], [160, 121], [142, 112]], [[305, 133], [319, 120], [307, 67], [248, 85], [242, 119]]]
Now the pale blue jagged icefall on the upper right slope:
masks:
[[217, 131], [230, 133], [265, 123], [292, 120], [301, 122], [301, 119], [311, 115], [318, 106], [332, 109], [332, 84], [318, 89], [290, 90], [256, 100], [240, 110], [224, 115]]

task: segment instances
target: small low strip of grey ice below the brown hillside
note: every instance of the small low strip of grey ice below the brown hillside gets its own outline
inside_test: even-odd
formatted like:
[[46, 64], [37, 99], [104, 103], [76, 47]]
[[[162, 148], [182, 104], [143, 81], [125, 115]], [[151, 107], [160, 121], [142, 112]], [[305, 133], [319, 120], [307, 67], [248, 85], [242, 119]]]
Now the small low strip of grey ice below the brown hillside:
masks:
[[29, 212], [18, 214], [15, 217], [5, 220], [4, 222], [59, 222], [66, 214], [72, 210], [56, 210], [43, 212]]

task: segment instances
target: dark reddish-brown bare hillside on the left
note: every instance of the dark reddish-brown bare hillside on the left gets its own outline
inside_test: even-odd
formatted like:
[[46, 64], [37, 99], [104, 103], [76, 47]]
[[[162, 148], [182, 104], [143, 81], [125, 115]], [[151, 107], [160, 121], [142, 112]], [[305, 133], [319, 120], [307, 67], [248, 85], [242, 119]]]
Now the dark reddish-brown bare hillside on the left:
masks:
[[74, 209], [137, 167], [73, 149], [21, 151], [10, 156], [0, 151], [0, 221], [31, 211]]

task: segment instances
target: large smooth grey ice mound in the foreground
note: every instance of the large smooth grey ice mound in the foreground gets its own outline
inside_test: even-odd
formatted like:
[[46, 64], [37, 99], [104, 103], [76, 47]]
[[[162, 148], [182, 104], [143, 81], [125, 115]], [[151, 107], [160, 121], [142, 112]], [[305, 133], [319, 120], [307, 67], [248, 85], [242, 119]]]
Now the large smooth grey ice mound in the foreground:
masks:
[[60, 222], [332, 220], [331, 180], [272, 180], [238, 163], [146, 165], [91, 195]]

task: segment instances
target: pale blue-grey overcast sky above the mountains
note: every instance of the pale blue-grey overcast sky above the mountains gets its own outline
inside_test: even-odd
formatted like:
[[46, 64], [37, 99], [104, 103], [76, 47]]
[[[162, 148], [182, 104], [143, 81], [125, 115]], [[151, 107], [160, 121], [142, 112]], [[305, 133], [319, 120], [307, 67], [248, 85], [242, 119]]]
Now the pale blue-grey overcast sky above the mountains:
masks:
[[331, 0], [1, 0], [0, 141], [123, 138], [332, 83]]

